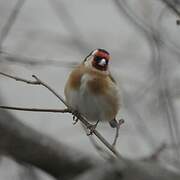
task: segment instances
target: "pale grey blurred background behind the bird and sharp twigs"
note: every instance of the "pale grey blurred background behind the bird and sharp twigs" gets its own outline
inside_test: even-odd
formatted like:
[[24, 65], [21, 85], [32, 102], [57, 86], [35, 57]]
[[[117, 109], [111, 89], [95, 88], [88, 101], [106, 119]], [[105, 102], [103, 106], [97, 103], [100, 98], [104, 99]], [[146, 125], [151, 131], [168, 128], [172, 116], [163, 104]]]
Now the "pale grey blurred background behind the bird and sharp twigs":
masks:
[[[125, 120], [117, 148], [124, 157], [151, 156], [180, 169], [179, 0], [0, 0], [0, 71], [38, 75], [63, 95], [72, 68], [93, 49], [110, 52]], [[180, 13], [179, 13], [180, 14]], [[63, 108], [42, 87], [0, 77], [0, 104]], [[80, 124], [67, 114], [9, 111], [24, 124], [100, 158]], [[100, 123], [110, 142], [114, 129]], [[0, 179], [52, 179], [1, 156]]]

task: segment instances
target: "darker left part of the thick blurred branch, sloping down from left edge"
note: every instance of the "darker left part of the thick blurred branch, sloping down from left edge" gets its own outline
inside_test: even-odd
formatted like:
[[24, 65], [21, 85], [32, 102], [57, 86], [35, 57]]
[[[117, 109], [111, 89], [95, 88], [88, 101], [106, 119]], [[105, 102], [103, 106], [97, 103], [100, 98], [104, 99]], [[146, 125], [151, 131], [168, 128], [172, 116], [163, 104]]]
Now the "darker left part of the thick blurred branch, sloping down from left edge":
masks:
[[96, 160], [25, 126], [0, 111], [0, 152], [36, 166], [54, 177], [74, 177]]

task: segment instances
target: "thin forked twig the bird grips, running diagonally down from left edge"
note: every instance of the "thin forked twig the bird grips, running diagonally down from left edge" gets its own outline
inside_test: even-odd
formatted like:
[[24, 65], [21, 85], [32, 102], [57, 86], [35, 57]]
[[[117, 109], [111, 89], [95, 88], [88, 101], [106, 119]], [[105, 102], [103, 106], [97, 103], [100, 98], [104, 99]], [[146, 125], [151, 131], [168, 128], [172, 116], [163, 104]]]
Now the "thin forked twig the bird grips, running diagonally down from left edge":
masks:
[[[16, 76], [8, 75], [6, 73], [0, 72], [1, 75], [6, 76], [8, 78], [14, 79], [16, 81], [21, 81], [24, 83], [32, 84], [32, 85], [42, 85], [45, 88], [47, 88], [51, 93], [53, 93], [68, 109], [69, 111], [75, 115], [85, 126], [89, 129], [89, 127], [92, 127], [92, 124], [90, 124], [85, 117], [83, 117], [79, 113], [74, 113], [75, 111], [66, 103], [63, 97], [61, 97], [54, 89], [52, 89], [47, 83], [41, 81], [37, 76], [32, 75], [32, 77], [35, 79], [35, 81], [27, 80], [24, 78], [19, 78]], [[122, 163], [124, 163], [124, 158], [120, 155], [120, 153], [95, 129], [92, 132], [97, 136], [97, 138], [116, 156], [118, 157]]]

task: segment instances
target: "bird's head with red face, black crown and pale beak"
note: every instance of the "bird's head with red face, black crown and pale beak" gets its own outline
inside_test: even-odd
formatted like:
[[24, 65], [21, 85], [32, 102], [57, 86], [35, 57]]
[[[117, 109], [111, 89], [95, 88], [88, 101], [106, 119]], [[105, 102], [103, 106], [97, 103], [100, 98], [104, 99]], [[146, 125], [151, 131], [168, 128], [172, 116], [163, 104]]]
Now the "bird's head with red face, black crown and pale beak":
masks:
[[84, 60], [86, 67], [93, 67], [100, 71], [107, 71], [110, 55], [104, 49], [96, 49], [92, 51]]

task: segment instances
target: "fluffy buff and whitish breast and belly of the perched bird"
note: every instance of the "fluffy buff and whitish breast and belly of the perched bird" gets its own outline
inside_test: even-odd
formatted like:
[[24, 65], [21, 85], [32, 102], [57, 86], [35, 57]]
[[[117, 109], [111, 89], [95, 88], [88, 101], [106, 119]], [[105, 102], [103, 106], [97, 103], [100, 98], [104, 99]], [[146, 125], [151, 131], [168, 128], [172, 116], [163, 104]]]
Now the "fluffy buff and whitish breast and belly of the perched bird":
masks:
[[66, 92], [72, 108], [92, 121], [115, 118], [119, 109], [117, 88], [107, 76], [84, 73], [77, 82], [78, 88]]

